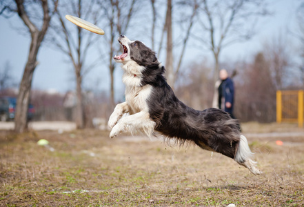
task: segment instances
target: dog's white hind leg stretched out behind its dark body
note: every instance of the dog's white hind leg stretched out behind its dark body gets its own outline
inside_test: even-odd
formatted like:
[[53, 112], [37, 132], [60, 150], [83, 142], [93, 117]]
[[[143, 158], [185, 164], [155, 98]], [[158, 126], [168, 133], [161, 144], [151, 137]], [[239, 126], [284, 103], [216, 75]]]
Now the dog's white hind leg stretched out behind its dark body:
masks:
[[253, 153], [251, 152], [248, 142], [245, 136], [241, 135], [240, 142], [239, 142], [239, 148], [236, 151], [236, 155], [234, 157], [234, 160], [240, 164], [241, 166], [244, 166], [245, 168], [248, 168], [250, 172], [254, 175], [261, 175], [263, 172], [256, 168], [256, 161], [253, 161], [250, 159], [252, 157]]

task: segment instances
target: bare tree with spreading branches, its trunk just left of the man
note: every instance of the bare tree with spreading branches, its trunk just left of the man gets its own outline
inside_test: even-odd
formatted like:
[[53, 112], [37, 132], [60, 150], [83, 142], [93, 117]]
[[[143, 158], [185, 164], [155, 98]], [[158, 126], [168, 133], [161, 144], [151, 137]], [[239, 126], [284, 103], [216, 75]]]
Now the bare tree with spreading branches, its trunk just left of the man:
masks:
[[219, 78], [219, 59], [223, 48], [250, 39], [254, 34], [252, 28], [256, 18], [266, 15], [267, 10], [263, 0], [201, 0], [199, 6], [198, 26], [202, 32], [196, 31], [200, 36], [194, 37], [212, 52], [215, 83]]

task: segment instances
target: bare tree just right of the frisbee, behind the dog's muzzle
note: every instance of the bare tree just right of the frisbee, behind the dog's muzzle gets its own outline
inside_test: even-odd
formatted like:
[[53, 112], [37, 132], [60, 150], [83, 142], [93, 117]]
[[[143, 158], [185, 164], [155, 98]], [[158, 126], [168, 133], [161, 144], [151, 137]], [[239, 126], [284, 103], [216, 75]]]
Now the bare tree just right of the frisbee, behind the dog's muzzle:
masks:
[[[136, 9], [135, 6], [139, 6], [138, 0], [102, 0], [99, 1], [101, 12], [103, 12], [102, 18], [107, 27], [105, 30], [105, 39], [108, 43], [108, 67], [110, 70], [110, 106], [114, 108], [114, 70], [115, 64], [113, 56], [121, 49], [119, 44], [116, 43], [116, 38], [120, 34], [124, 34], [129, 26], [132, 17], [134, 17]], [[104, 18], [105, 17], [105, 18]]]

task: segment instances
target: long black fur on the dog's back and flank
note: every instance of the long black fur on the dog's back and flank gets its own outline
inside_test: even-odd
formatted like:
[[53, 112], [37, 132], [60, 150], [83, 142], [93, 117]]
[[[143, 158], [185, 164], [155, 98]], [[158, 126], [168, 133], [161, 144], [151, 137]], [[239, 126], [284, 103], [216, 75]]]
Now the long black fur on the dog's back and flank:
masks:
[[165, 82], [154, 86], [148, 104], [150, 118], [156, 122], [155, 130], [161, 134], [234, 157], [240, 139], [239, 124], [223, 110], [194, 110], [179, 101]]

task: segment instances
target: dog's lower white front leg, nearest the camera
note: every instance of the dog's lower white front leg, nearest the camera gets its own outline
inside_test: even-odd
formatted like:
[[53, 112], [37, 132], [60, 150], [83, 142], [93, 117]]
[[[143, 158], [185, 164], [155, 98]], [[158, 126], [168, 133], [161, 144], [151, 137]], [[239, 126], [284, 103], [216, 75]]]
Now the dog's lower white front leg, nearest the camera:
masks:
[[110, 137], [116, 137], [121, 132], [129, 130], [132, 134], [138, 131], [145, 132], [148, 137], [151, 137], [155, 122], [150, 119], [150, 114], [145, 111], [138, 112], [128, 117], [123, 117], [119, 122], [112, 128]]

